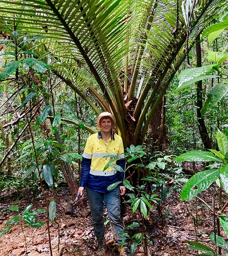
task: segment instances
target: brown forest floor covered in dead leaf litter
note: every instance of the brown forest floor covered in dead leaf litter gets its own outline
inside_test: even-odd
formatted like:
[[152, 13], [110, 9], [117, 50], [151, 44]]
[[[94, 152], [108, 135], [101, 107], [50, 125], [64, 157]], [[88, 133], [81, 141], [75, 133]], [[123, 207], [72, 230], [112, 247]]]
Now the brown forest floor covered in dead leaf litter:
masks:
[[[49, 193], [51, 196], [51, 193]], [[200, 198], [208, 205], [212, 205], [212, 194], [217, 196], [216, 187], [201, 193]], [[31, 196], [25, 196], [17, 204], [20, 212], [31, 202]], [[48, 198], [51, 199], [51, 198]], [[65, 208], [71, 199], [67, 188], [61, 188], [56, 192], [56, 222], [59, 223], [60, 236], [58, 236], [58, 225], [56, 222], [50, 223], [50, 236], [53, 256], [96, 256], [96, 240], [94, 239], [91, 223], [91, 214], [88, 206], [87, 197], [79, 199], [73, 209], [72, 215], [65, 214]], [[8, 207], [13, 205], [7, 198], [1, 196], [0, 199], [0, 231], [9, 219], [16, 215], [16, 212], [8, 211]], [[132, 208], [124, 204], [123, 222], [124, 227], [133, 221], [139, 221], [138, 215], [132, 215]], [[36, 198], [32, 210], [45, 208], [42, 197]], [[196, 210], [197, 209], [197, 210]], [[160, 211], [154, 205], [154, 210], [149, 212], [146, 222], [146, 231], [151, 244], [148, 245], [149, 256], [190, 256], [197, 255], [196, 251], [190, 250], [184, 240], [197, 241], [207, 244], [210, 243], [209, 235], [213, 234], [213, 215], [207, 205], [202, 201], [192, 200], [180, 203], [180, 192], [172, 191], [167, 199], [160, 203]], [[227, 209], [226, 209], [227, 210]], [[105, 220], [108, 218], [104, 212]], [[36, 220], [46, 222], [46, 214], [36, 216]], [[196, 225], [194, 225], [194, 219]], [[195, 227], [196, 226], [196, 227]], [[129, 231], [129, 230], [128, 230]], [[141, 232], [139, 228], [130, 230], [130, 235]], [[105, 238], [107, 241], [106, 256], [117, 256], [113, 245], [112, 232], [109, 224], [106, 227]], [[26, 241], [26, 243], [25, 243]], [[59, 250], [58, 250], [59, 244]], [[132, 240], [129, 240], [129, 245]], [[26, 249], [27, 247], [27, 249]], [[27, 250], [27, 252], [26, 252]], [[42, 228], [23, 228], [20, 223], [0, 237], [0, 252], [2, 256], [49, 256], [48, 229], [47, 223]], [[143, 256], [143, 246], [139, 244], [134, 256]]]

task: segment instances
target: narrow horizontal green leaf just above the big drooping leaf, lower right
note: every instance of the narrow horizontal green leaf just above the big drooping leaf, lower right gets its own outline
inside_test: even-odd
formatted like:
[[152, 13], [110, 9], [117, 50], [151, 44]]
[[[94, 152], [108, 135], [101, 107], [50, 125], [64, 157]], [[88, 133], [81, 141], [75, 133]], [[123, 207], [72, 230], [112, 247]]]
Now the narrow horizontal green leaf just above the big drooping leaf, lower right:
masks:
[[176, 162], [190, 161], [190, 162], [222, 162], [221, 158], [216, 157], [211, 152], [191, 150], [184, 154], [180, 154], [173, 159]]

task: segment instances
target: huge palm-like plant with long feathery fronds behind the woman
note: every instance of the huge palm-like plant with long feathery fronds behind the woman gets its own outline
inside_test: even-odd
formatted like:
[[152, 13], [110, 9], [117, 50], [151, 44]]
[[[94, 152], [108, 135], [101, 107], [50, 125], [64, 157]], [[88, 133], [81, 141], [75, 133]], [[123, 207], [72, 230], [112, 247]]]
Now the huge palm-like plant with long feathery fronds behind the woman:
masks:
[[[22, 59], [46, 62], [96, 114], [112, 112], [127, 147], [142, 143], [172, 77], [223, 3], [0, 0], [1, 46], [17, 39]], [[29, 37], [44, 38], [31, 49]], [[17, 60], [10, 52], [2, 73]]]

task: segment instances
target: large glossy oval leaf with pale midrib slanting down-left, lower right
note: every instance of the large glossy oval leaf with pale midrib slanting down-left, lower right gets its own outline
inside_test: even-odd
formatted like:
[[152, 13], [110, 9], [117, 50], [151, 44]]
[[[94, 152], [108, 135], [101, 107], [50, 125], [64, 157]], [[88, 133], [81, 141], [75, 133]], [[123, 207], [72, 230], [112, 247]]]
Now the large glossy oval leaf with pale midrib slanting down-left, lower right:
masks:
[[180, 200], [191, 199], [206, 190], [220, 175], [220, 169], [210, 169], [197, 172], [181, 190]]

